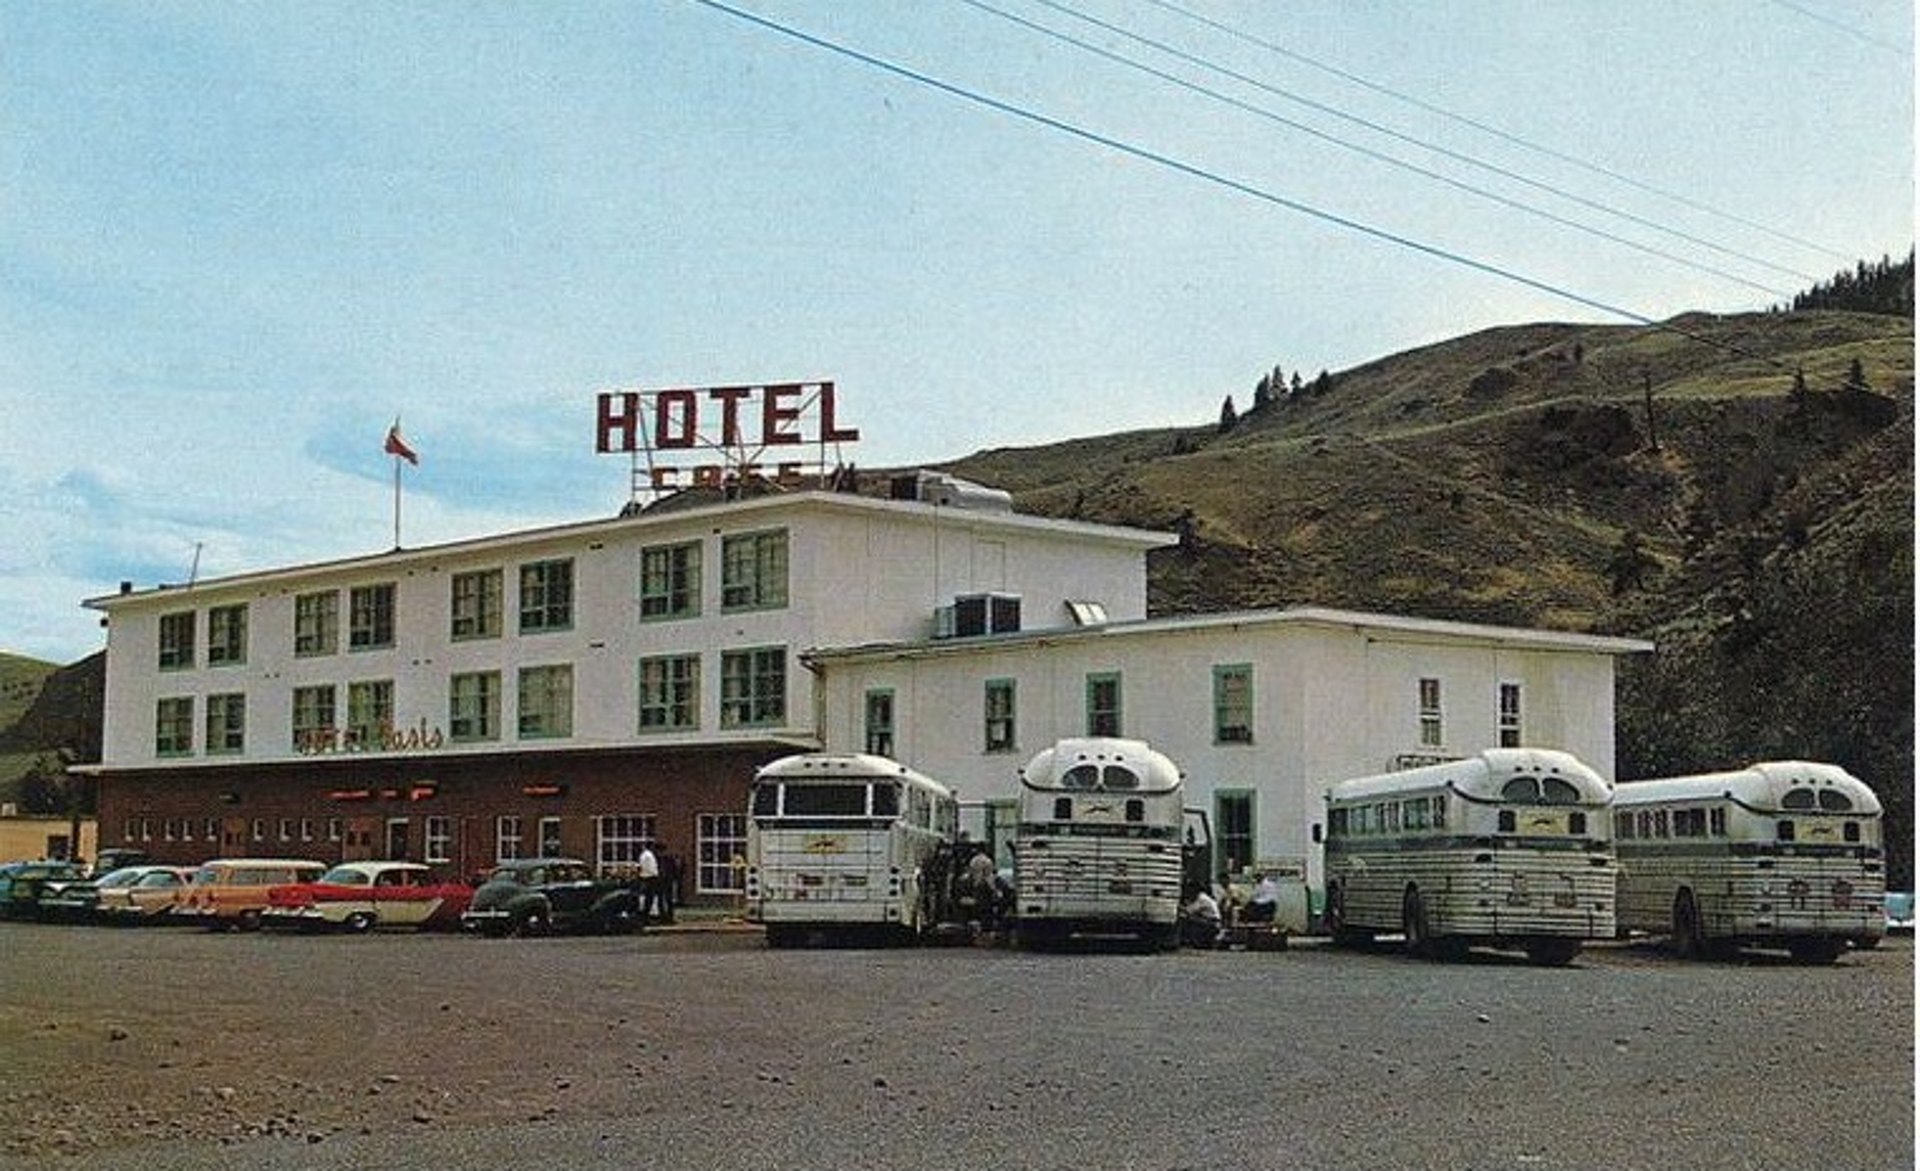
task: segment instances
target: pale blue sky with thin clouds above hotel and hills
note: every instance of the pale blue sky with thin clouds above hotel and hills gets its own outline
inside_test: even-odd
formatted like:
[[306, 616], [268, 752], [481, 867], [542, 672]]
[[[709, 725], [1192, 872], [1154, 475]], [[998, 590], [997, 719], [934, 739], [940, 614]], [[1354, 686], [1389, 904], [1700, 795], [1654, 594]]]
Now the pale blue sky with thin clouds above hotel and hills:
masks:
[[1912, 244], [1907, 2], [983, 4], [1187, 84], [737, 0], [1129, 152], [695, 0], [0, 6], [0, 649], [390, 547], [396, 417], [420, 545], [614, 513], [603, 390], [831, 378], [881, 466], [1615, 321], [1300, 207], [1653, 319]]

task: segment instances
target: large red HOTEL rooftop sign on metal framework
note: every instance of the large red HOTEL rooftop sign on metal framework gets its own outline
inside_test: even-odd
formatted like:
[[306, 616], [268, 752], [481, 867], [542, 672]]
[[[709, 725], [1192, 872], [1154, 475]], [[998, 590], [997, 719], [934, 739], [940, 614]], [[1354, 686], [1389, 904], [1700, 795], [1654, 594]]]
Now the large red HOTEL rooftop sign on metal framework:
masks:
[[828, 445], [858, 438], [835, 418], [831, 382], [614, 390], [599, 395], [595, 451], [634, 455], [636, 488], [645, 457], [645, 488], [674, 491], [751, 478], [824, 480]]

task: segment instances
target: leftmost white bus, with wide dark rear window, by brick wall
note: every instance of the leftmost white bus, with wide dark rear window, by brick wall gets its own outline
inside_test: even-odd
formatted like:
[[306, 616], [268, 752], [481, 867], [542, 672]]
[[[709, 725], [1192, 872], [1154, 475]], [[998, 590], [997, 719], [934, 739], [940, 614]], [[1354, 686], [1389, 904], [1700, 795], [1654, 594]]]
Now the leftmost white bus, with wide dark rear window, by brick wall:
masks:
[[747, 816], [747, 918], [766, 943], [810, 933], [933, 927], [922, 873], [950, 850], [960, 814], [947, 785], [858, 753], [806, 753], [760, 768]]

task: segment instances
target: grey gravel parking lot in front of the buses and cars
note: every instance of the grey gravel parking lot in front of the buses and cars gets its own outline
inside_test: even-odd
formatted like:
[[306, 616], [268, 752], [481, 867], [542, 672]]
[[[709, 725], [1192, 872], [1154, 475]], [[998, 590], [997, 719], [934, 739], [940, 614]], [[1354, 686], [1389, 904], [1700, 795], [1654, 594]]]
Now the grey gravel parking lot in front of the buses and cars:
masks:
[[4, 1167], [1914, 1165], [1832, 968], [0, 927]]

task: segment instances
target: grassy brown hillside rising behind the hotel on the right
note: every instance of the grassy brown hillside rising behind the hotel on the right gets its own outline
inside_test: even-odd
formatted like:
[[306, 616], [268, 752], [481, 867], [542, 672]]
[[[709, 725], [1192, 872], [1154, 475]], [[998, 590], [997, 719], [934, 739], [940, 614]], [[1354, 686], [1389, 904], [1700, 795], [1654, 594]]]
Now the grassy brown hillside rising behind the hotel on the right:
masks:
[[1836, 760], [1885, 797], [1910, 885], [1912, 321], [1670, 326], [1486, 330], [1229, 430], [947, 470], [1023, 511], [1183, 532], [1152, 559], [1156, 612], [1319, 603], [1651, 637], [1622, 664], [1622, 777]]

